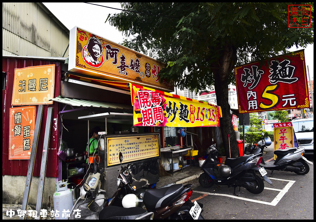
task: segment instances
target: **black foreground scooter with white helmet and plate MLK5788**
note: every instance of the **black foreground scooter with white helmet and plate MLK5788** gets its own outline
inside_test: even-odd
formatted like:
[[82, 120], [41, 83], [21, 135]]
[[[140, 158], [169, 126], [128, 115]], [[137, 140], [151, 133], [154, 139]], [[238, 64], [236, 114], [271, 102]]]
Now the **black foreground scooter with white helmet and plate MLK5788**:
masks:
[[148, 212], [153, 213], [154, 219], [204, 219], [201, 215], [203, 204], [189, 200], [193, 192], [192, 184], [174, 184], [138, 193], [135, 187], [132, 187], [129, 165], [122, 167], [121, 152], [119, 160], [121, 171], [117, 177], [118, 189], [109, 200], [109, 207], [146, 207]]

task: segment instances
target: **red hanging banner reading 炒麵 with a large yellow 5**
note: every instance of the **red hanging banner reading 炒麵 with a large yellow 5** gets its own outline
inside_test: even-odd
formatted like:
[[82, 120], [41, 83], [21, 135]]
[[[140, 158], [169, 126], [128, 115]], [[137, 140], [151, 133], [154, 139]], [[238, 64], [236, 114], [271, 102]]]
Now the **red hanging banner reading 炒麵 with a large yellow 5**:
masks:
[[235, 67], [240, 113], [309, 107], [304, 50]]

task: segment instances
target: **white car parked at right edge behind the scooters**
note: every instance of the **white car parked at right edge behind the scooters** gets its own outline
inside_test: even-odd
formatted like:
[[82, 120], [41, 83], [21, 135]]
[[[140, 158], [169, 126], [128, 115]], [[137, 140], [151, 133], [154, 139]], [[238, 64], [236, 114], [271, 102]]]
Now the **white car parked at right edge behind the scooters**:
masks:
[[314, 154], [314, 118], [291, 121], [300, 147], [305, 147], [304, 154]]

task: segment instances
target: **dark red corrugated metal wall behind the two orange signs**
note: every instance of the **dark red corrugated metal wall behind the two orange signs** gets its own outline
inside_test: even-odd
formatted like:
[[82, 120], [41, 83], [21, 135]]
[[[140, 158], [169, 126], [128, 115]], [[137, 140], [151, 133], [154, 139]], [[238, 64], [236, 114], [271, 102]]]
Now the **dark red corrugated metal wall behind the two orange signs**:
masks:
[[[60, 79], [61, 79], [61, 63], [45, 60], [34, 59], [17, 59], [17, 58], [2, 58], [2, 71], [7, 74], [6, 88], [2, 91], [2, 175], [26, 176], [29, 160], [9, 160], [9, 110], [11, 107], [14, 69], [25, 68], [28, 66], [49, 65], [55, 64], [55, 89], [54, 98], [60, 95]], [[44, 143], [45, 125], [47, 108], [53, 107], [52, 127], [49, 141], [49, 151], [47, 157], [46, 177], [58, 177], [58, 135], [59, 135], [59, 106], [58, 103], [52, 105], [44, 105], [41, 129], [37, 145], [37, 153], [34, 163], [33, 176], [40, 175], [40, 165], [42, 159], [42, 150]], [[36, 105], [37, 116], [38, 105]]]

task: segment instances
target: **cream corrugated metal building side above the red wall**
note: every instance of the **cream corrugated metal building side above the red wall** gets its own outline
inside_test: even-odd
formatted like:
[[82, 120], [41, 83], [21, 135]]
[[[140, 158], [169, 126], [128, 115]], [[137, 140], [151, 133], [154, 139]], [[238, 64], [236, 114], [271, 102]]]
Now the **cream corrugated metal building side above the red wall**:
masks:
[[2, 49], [12, 54], [61, 57], [69, 31], [41, 4], [9, 2], [2, 3], [2, 38]]

